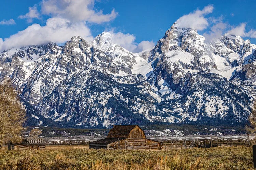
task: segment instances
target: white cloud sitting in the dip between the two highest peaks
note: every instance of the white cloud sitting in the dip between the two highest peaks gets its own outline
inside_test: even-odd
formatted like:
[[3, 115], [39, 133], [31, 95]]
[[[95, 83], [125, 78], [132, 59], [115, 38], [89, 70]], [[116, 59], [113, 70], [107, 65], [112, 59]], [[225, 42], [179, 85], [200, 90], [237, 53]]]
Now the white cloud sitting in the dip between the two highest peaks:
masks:
[[119, 44], [128, 51], [131, 52], [141, 52], [154, 47], [155, 43], [153, 41], [141, 41], [139, 44], [136, 43], [136, 37], [133, 34], [124, 34], [122, 32], [115, 33], [113, 30], [109, 31], [112, 35], [112, 42]]

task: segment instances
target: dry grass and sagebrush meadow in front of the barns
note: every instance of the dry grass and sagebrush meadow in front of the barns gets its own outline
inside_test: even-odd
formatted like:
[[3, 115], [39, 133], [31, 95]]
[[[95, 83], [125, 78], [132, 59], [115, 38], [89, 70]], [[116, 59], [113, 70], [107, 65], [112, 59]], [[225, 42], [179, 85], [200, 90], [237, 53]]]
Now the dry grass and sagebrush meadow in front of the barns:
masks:
[[0, 150], [0, 169], [253, 169], [252, 147], [191, 148], [169, 151], [48, 148]]

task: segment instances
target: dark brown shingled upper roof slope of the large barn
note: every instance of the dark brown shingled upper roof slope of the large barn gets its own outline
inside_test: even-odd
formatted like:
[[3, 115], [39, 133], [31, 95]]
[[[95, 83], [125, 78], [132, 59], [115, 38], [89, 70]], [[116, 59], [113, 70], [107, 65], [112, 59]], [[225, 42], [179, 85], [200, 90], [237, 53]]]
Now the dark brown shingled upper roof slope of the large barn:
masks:
[[107, 138], [128, 138], [130, 131], [137, 125], [114, 125]]

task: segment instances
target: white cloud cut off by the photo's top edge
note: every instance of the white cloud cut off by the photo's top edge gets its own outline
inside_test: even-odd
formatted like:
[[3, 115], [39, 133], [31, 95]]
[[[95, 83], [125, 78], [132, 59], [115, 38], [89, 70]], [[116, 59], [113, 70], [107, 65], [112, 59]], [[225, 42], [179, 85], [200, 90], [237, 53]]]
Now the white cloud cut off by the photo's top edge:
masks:
[[94, 0], [43, 0], [41, 11], [53, 17], [62, 17], [70, 21], [89, 21], [103, 23], [113, 20], [118, 13], [112, 10], [110, 14], [103, 14], [100, 10], [93, 10]]

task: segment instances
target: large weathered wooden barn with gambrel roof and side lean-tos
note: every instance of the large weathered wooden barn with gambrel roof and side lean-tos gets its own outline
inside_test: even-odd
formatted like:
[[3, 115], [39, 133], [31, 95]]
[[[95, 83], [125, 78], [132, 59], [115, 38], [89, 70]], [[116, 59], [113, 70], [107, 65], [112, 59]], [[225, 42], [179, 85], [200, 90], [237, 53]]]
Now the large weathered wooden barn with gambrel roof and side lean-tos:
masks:
[[147, 139], [138, 125], [114, 125], [107, 138], [90, 142], [89, 148], [161, 150], [162, 142]]

